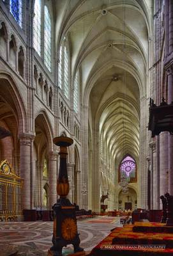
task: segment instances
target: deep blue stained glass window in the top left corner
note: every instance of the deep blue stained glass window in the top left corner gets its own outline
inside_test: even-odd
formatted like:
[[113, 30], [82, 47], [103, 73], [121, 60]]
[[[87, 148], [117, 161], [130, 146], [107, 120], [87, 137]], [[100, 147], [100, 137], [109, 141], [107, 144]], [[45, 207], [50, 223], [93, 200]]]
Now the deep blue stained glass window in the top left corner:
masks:
[[22, 27], [22, 1], [10, 0], [10, 12], [20, 27]]

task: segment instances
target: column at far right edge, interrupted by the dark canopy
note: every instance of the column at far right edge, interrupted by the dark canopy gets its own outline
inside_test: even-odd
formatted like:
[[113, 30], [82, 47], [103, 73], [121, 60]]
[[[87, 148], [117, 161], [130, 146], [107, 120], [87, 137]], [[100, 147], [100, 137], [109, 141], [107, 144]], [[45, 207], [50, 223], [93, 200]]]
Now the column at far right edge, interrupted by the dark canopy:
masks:
[[[168, 75], [168, 103], [171, 104], [173, 102], [173, 69], [172, 67], [168, 68], [167, 75]], [[170, 195], [173, 195], [173, 135], [169, 134], [168, 136], [169, 136], [169, 141], [168, 141], [169, 193]]]

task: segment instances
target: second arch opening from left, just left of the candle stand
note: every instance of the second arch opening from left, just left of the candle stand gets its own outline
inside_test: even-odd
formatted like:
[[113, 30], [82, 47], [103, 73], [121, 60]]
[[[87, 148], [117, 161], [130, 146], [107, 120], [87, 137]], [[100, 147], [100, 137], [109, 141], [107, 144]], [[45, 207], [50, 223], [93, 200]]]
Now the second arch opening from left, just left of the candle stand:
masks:
[[[34, 148], [35, 154], [37, 156], [36, 170], [34, 180], [34, 187], [36, 188], [36, 202], [34, 207], [42, 208], [43, 207], [43, 188], [45, 184], [49, 184], [52, 182], [56, 182], [56, 168], [54, 166], [54, 170], [51, 170], [52, 163], [52, 132], [49, 127], [49, 121], [40, 113], [35, 119], [35, 133], [36, 136], [34, 138]], [[46, 165], [46, 166], [45, 166]], [[46, 169], [46, 170], [45, 170]], [[51, 170], [51, 172], [49, 172]], [[45, 174], [47, 173], [47, 174]], [[54, 181], [52, 180], [52, 173], [54, 174]], [[53, 186], [52, 191], [54, 189], [54, 193], [49, 193], [48, 204], [53, 205], [56, 202], [56, 188]], [[51, 190], [51, 186], [50, 186]], [[53, 199], [52, 199], [53, 198]]]

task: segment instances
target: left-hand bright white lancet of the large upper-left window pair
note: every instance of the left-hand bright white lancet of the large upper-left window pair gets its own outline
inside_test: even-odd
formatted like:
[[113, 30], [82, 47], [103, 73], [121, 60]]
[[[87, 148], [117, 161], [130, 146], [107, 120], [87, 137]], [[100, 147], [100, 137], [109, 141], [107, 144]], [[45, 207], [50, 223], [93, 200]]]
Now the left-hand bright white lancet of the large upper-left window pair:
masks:
[[41, 55], [41, 3], [40, 0], [35, 0], [34, 4], [34, 22], [33, 22], [33, 43], [34, 49]]

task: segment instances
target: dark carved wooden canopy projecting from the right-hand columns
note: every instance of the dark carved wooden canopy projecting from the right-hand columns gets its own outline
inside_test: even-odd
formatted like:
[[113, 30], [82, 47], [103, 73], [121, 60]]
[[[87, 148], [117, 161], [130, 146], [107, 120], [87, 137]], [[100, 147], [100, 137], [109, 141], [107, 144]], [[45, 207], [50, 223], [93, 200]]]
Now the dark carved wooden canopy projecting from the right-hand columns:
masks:
[[151, 131], [151, 137], [153, 138], [163, 131], [173, 134], [173, 102], [167, 104], [163, 98], [160, 106], [156, 106], [154, 100], [150, 98], [149, 105], [148, 130]]

